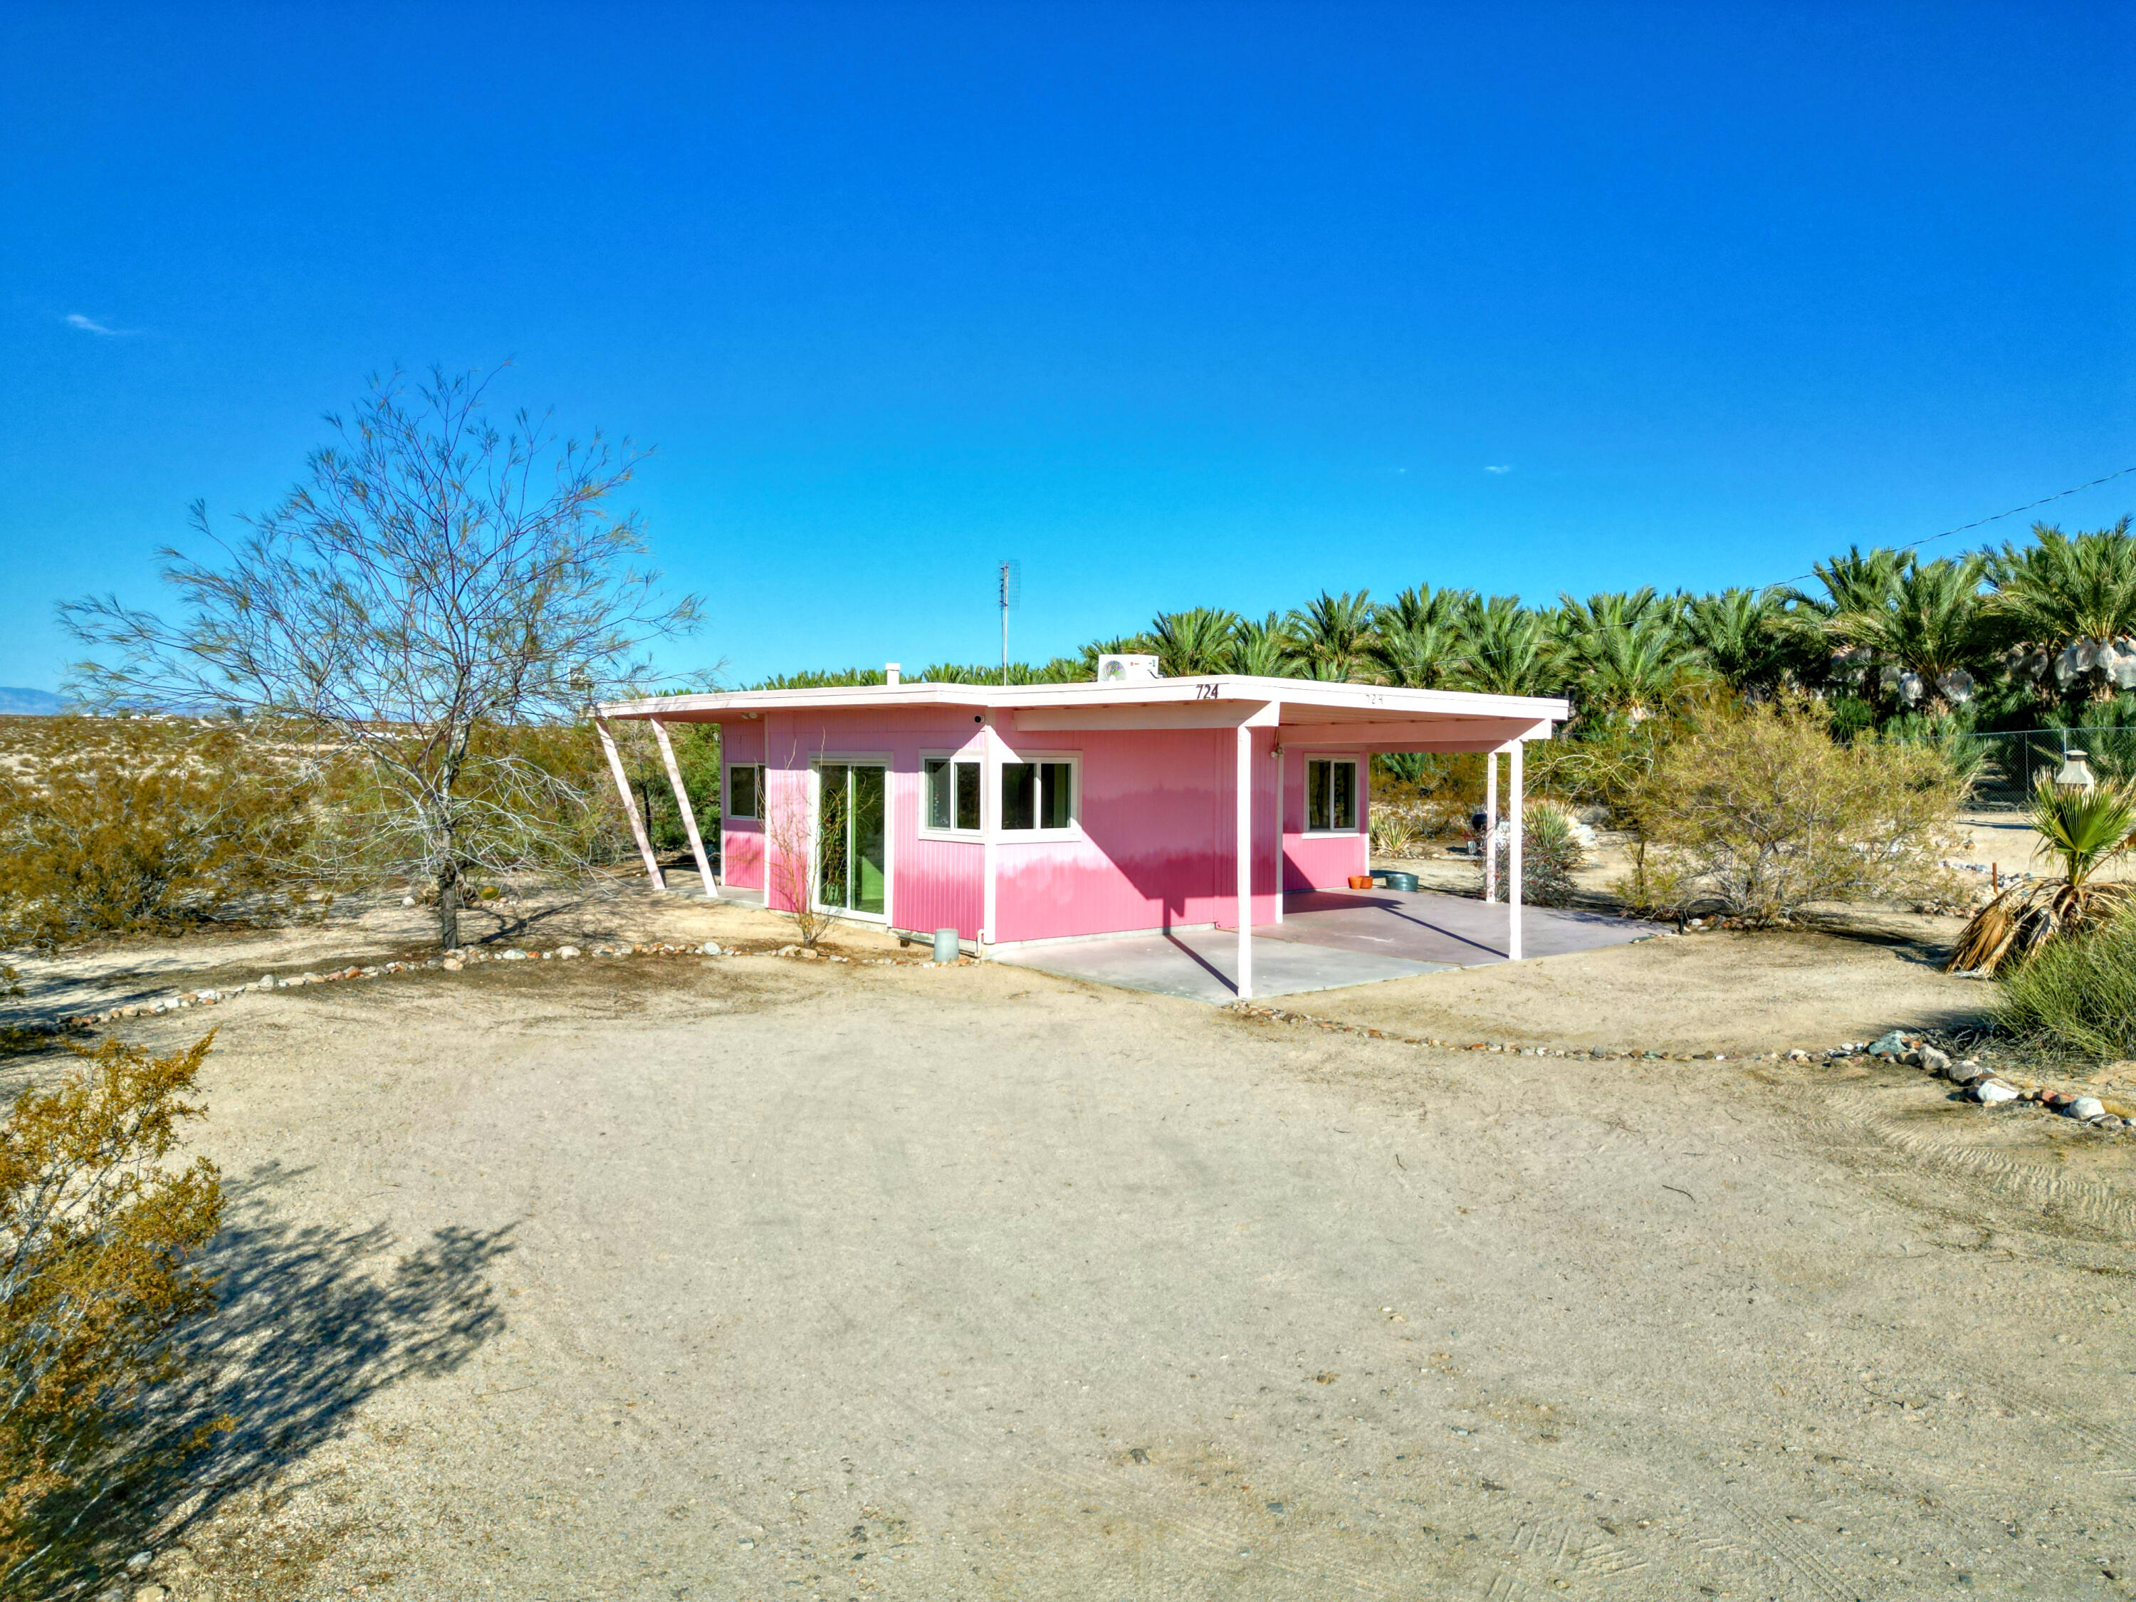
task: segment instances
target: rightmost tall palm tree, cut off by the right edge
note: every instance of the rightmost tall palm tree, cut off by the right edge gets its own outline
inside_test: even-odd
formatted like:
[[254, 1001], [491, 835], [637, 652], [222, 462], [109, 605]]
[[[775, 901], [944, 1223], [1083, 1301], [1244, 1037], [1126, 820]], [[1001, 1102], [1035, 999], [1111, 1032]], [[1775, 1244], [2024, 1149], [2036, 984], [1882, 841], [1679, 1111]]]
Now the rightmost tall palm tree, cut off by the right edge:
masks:
[[[1989, 611], [2033, 677], [2110, 701], [2136, 690], [2136, 534], [2130, 519], [2089, 534], [2036, 523], [2033, 543], [1989, 557]], [[2089, 649], [2087, 649], [2089, 647]], [[2110, 654], [2110, 656], [2108, 656]]]

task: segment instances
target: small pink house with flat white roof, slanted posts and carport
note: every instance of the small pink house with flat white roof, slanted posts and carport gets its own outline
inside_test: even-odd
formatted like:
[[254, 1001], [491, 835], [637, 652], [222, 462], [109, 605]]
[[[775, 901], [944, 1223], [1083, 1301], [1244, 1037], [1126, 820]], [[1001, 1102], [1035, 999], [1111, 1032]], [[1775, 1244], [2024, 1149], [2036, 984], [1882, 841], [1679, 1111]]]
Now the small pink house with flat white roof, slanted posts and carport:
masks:
[[[1149, 658], [1102, 671], [1004, 688], [899, 684], [893, 669], [882, 686], [660, 696], [598, 718], [645, 720], [662, 748], [664, 722], [722, 726], [720, 891], [773, 910], [810, 897], [916, 938], [955, 929], [980, 955], [1237, 929], [1237, 993], [1252, 995], [1254, 925], [1279, 923], [1286, 895], [1367, 871], [1373, 752], [1506, 752], [1519, 820], [1521, 745], [1568, 716], [1534, 696], [1166, 679]], [[669, 778], [681, 795], [673, 756]], [[681, 814], [694, 818], [688, 797]], [[643, 833], [639, 848], [662, 882]], [[1519, 957], [1517, 865], [1508, 880]]]

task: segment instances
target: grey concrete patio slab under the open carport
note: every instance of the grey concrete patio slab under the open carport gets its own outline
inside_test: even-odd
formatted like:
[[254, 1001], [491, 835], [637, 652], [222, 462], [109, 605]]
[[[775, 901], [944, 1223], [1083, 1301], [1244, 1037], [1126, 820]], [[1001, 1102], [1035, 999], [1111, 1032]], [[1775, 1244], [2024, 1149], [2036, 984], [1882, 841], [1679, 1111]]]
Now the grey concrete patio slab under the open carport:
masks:
[[[1254, 995], [1299, 995], [1502, 963], [1506, 912], [1435, 891], [1288, 895], [1282, 923], [1254, 925]], [[1527, 957], [1623, 946], [1651, 933], [1651, 925], [1600, 912], [1525, 908], [1521, 916]], [[1192, 1002], [1222, 1004], [1239, 993], [1239, 936], [1232, 929], [1064, 940], [1000, 953], [1000, 961]]]

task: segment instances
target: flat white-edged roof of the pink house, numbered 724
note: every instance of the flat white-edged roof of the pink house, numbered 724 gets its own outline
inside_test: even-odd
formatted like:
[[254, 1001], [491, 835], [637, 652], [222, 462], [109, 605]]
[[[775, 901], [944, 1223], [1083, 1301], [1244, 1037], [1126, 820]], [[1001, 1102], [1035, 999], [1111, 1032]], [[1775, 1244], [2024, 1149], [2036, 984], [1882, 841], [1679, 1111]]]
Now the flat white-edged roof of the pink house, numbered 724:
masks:
[[[1277, 726], [1403, 724], [1444, 726], [1459, 720], [1549, 724], [1572, 716], [1559, 696], [1495, 696], [1470, 690], [1399, 690], [1384, 684], [1329, 679], [1262, 679], [1209, 673], [1185, 679], [1113, 679], [1106, 684], [852, 684], [810, 690], [720, 690], [690, 696], [647, 696], [596, 707], [602, 718], [662, 718], [675, 722], [728, 722], [767, 711], [886, 711], [893, 707], [991, 707], [1004, 711], [1077, 713], [1104, 707], [1143, 707], [1156, 713], [1143, 726], [1164, 726], [1164, 709], [1275, 705]], [[1228, 718], [1237, 722], [1237, 716]], [[1051, 722], [1051, 718], [1049, 718]], [[1198, 722], [1198, 720], [1196, 720]], [[1062, 724], [1055, 724], [1062, 726]]]

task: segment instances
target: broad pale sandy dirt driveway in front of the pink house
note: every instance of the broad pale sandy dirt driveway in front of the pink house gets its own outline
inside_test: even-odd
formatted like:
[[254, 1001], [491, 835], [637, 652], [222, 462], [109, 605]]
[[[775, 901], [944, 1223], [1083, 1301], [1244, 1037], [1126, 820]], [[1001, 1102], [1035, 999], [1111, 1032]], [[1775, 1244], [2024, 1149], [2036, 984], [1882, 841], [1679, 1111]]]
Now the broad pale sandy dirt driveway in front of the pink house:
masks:
[[2127, 1145], [1905, 1070], [773, 957], [216, 1021], [175, 1602], [2136, 1596]]

